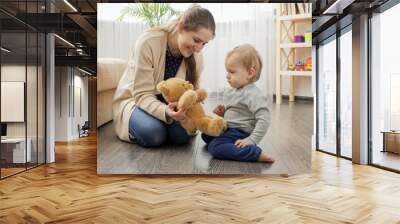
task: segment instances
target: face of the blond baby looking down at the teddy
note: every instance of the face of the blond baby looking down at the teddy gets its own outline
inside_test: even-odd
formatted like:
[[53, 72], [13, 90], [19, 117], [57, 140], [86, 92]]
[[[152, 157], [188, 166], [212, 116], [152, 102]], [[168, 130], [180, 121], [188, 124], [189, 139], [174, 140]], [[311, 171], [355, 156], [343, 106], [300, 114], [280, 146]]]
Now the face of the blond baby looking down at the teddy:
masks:
[[234, 60], [234, 56], [227, 59], [226, 79], [233, 88], [239, 89], [250, 83], [250, 72], [240, 63]]

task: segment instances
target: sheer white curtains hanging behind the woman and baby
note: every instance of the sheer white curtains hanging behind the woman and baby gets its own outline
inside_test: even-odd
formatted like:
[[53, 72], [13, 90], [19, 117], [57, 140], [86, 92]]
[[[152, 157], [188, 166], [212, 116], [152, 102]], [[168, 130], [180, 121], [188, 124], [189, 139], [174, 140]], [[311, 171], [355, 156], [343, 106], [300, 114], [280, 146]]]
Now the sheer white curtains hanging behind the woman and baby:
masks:
[[[105, 20], [107, 7], [99, 4], [98, 56], [127, 59], [129, 48], [146, 29], [140, 20], [117, 22]], [[113, 4], [114, 5], [114, 4]], [[120, 4], [121, 8], [126, 4]], [[183, 11], [189, 4], [171, 4]], [[262, 57], [263, 69], [256, 85], [272, 97], [275, 80], [275, 4], [200, 4], [216, 20], [216, 36], [203, 49], [204, 70], [200, 85], [214, 96], [228, 86], [225, 56], [229, 50], [243, 43], [252, 44]], [[118, 16], [118, 15], [117, 15]]]

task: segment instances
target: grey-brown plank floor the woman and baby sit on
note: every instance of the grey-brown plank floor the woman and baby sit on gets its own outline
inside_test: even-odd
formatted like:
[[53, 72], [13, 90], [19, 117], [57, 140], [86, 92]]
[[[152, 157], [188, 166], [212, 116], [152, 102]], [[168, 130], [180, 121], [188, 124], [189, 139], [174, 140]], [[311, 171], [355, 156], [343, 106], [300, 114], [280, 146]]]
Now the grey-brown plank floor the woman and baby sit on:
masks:
[[[207, 99], [206, 111], [218, 102]], [[184, 146], [143, 148], [120, 141], [109, 123], [98, 132], [98, 166], [101, 174], [299, 174], [309, 173], [313, 103], [297, 101], [271, 108], [272, 125], [259, 146], [275, 163], [213, 159], [200, 135]]]

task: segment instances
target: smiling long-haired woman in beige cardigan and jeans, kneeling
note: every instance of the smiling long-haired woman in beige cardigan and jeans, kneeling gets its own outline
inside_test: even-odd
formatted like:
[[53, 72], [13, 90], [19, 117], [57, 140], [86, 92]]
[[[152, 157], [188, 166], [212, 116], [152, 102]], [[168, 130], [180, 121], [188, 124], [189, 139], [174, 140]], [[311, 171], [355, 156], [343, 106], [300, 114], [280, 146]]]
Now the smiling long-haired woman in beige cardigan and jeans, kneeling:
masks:
[[138, 37], [114, 96], [114, 126], [121, 140], [144, 147], [160, 146], [168, 140], [186, 144], [190, 140], [178, 122], [185, 118], [185, 112], [167, 105], [155, 86], [179, 77], [197, 89], [202, 69], [200, 52], [214, 34], [212, 14], [193, 6], [177, 20]]

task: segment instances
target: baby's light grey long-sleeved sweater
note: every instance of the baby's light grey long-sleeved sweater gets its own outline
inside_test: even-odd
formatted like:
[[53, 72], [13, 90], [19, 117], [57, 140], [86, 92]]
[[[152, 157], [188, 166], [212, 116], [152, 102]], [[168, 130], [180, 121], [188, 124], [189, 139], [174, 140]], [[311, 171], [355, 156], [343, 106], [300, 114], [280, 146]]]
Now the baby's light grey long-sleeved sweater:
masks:
[[254, 83], [240, 89], [224, 91], [224, 118], [229, 128], [238, 128], [250, 134], [246, 140], [258, 144], [271, 123], [271, 110], [267, 97]]

